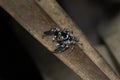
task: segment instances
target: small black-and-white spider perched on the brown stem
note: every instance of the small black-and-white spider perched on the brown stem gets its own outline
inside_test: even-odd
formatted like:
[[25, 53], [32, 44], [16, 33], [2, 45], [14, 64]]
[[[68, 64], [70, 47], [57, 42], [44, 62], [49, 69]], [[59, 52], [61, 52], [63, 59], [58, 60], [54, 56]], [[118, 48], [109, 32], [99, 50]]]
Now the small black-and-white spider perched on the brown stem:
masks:
[[73, 36], [73, 32], [69, 29], [60, 30], [59, 28], [51, 28], [49, 31], [44, 32], [44, 36], [52, 35], [52, 41], [56, 42], [57, 49], [55, 52], [64, 52], [71, 45], [74, 46], [79, 40]]

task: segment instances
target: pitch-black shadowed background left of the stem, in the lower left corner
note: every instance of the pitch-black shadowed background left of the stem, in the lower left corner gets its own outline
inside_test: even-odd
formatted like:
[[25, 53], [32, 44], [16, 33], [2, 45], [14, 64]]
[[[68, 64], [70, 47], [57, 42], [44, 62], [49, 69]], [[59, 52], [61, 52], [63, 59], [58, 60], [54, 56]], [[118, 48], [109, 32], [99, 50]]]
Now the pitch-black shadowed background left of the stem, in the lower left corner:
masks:
[[13, 21], [0, 8], [0, 80], [42, 80], [28, 52], [13, 32]]

